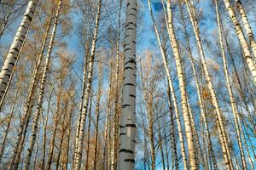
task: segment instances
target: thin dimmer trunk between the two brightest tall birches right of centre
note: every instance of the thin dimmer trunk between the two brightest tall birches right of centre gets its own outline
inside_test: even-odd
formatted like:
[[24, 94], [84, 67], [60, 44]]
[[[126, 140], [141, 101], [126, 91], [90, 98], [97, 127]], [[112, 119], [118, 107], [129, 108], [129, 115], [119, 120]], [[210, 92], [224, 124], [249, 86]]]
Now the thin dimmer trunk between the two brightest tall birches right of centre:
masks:
[[190, 42], [189, 42], [189, 33], [188, 33], [188, 31], [186, 29], [186, 26], [185, 26], [185, 19], [184, 19], [183, 8], [182, 8], [181, 3], [178, 3], [178, 6], [179, 6], [179, 9], [180, 9], [181, 20], [182, 20], [182, 24], [183, 24], [183, 32], [185, 34], [185, 39], [186, 39], [186, 42], [187, 42], [186, 48], [187, 48], [188, 53], [189, 53], [189, 60], [190, 60], [190, 64], [191, 64], [191, 67], [192, 67], [192, 72], [193, 72], [193, 77], [194, 77], [194, 81], [195, 81], [195, 87], [196, 87], [196, 92], [197, 92], [197, 96], [198, 96], [198, 102], [199, 102], [199, 107], [200, 107], [200, 111], [201, 111], [201, 116], [202, 116], [202, 119], [203, 119], [203, 122], [204, 122], [205, 131], [206, 131], [206, 134], [207, 134], [207, 144], [208, 144], [208, 148], [209, 148], [209, 151], [210, 151], [210, 156], [212, 157], [213, 168], [215, 170], [217, 170], [218, 169], [217, 161], [216, 161], [216, 158], [215, 158], [215, 155], [214, 155], [214, 151], [212, 149], [212, 139], [211, 139], [209, 128], [208, 128], [207, 116], [206, 116], [204, 106], [203, 106], [203, 102], [202, 102], [201, 90], [200, 90], [201, 87], [199, 85], [199, 81], [198, 81], [198, 78], [196, 76], [195, 62], [194, 62], [194, 59], [193, 59], [193, 56], [192, 56], [192, 50], [191, 50], [191, 46], [190, 46]]

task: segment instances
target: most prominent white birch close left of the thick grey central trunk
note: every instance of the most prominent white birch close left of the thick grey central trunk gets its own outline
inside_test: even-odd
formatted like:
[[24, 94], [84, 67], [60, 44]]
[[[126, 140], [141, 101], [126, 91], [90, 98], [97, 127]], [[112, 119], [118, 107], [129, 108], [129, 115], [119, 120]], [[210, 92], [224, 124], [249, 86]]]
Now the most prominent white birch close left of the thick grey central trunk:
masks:
[[96, 51], [96, 41], [97, 41], [98, 29], [99, 29], [99, 21], [101, 17], [101, 9], [102, 9], [102, 0], [100, 0], [98, 3], [98, 9], [96, 14], [96, 25], [95, 25], [94, 36], [93, 36], [93, 41], [92, 41], [91, 51], [90, 51], [88, 82], [86, 84], [86, 88], [84, 92], [84, 111], [81, 116], [81, 121], [79, 124], [80, 127], [77, 128], [77, 133], [79, 133], [79, 138], [77, 137], [76, 139], [77, 150], [75, 153], [75, 167], [74, 167], [75, 170], [79, 170], [81, 168], [82, 152], [83, 152], [83, 145], [84, 145], [84, 126], [85, 126], [86, 113], [88, 111], [88, 101], [89, 101], [91, 82], [93, 77], [93, 66], [94, 66], [94, 58], [95, 58], [95, 51]]

